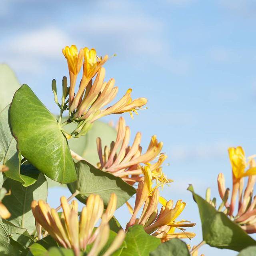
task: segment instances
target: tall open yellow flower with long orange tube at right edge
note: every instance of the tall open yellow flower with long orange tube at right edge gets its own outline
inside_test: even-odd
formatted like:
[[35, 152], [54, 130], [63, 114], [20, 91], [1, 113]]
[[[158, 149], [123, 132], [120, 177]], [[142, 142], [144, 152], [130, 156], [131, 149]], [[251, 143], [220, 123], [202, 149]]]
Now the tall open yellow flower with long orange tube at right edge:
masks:
[[248, 163], [246, 162], [245, 153], [241, 146], [238, 146], [237, 148], [229, 148], [228, 153], [229, 153], [229, 158], [232, 166], [232, 174], [233, 174], [232, 175], [233, 190], [232, 190], [232, 198], [231, 198], [230, 209], [229, 209], [229, 215], [232, 216], [234, 212], [240, 180], [243, 177], [256, 174], [256, 167], [251, 167], [247, 171], [245, 171], [245, 169], [248, 166]]

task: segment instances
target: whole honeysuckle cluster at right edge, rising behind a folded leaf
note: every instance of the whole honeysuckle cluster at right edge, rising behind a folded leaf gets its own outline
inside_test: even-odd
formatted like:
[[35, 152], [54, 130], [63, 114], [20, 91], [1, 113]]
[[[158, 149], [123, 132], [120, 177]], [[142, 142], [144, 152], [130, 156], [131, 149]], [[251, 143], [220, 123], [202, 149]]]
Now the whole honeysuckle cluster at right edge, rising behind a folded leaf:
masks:
[[[256, 183], [256, 162], [254, 156], [246, 159], [242, 147], [229, 148], [229, 157], [232, 166], [232, 195], [230, 203], [229, 188], [226, 188], [224, 174], [218, 175], [218, 191], [222, 203], [218, 210], [230, 216], [247, 233], [256, 233], [256, 196], [253, 196], [253, 188]], [[248, 168], [248, 170], [246, 170]], [[248, 177], [244, 188], [245, 178]], [[238, 212], [234, 214], [238, 197]], [[216, 200], [211, 201], [216, 206]]]

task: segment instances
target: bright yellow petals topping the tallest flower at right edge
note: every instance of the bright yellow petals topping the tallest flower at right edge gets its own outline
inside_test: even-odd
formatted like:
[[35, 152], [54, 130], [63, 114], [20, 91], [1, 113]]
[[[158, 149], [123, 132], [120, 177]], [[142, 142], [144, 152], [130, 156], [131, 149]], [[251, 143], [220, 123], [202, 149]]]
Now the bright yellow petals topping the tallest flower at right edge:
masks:
[[245, 176], [255, 175], [256, 168], [249, 168], [246, 172], [247, 167], [246, 157], [244, 150], [241, 146], [237, 148], [228, 148], [229, 158], [232, 166], [232, 172], [236, 179], [240, 179]]

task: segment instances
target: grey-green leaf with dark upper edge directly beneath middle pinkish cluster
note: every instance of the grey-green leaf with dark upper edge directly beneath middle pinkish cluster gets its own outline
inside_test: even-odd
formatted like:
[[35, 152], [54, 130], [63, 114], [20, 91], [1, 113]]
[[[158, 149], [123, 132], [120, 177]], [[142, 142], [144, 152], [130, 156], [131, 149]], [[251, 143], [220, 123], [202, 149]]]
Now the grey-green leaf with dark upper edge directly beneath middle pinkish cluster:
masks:
[[118, 208], [136, 193], [135, 188], [121, 178], [99, 170], [84, 160], [76, 163], [76, 172], [78, 178], [75, 182], [68, 184], [68, 188], [72, 194], [76, 190], [80, 191], [76, 198], [84, 204], [90, 194], [99, 194], [104, 206], [107, 206], [110, 195], [115, 193]]

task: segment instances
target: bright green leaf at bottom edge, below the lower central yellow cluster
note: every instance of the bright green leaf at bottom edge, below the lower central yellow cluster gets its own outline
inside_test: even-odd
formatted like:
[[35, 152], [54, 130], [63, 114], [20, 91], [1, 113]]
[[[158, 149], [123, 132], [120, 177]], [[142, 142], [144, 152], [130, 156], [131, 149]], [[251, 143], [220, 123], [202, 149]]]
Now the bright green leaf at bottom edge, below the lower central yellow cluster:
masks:
[[147, 234], [141, 225], [134, 225], [128, 229], [125, 242], [127, 248], [123, 249], [121, 256], [148, 256], [161, 244], [160, 239]]

